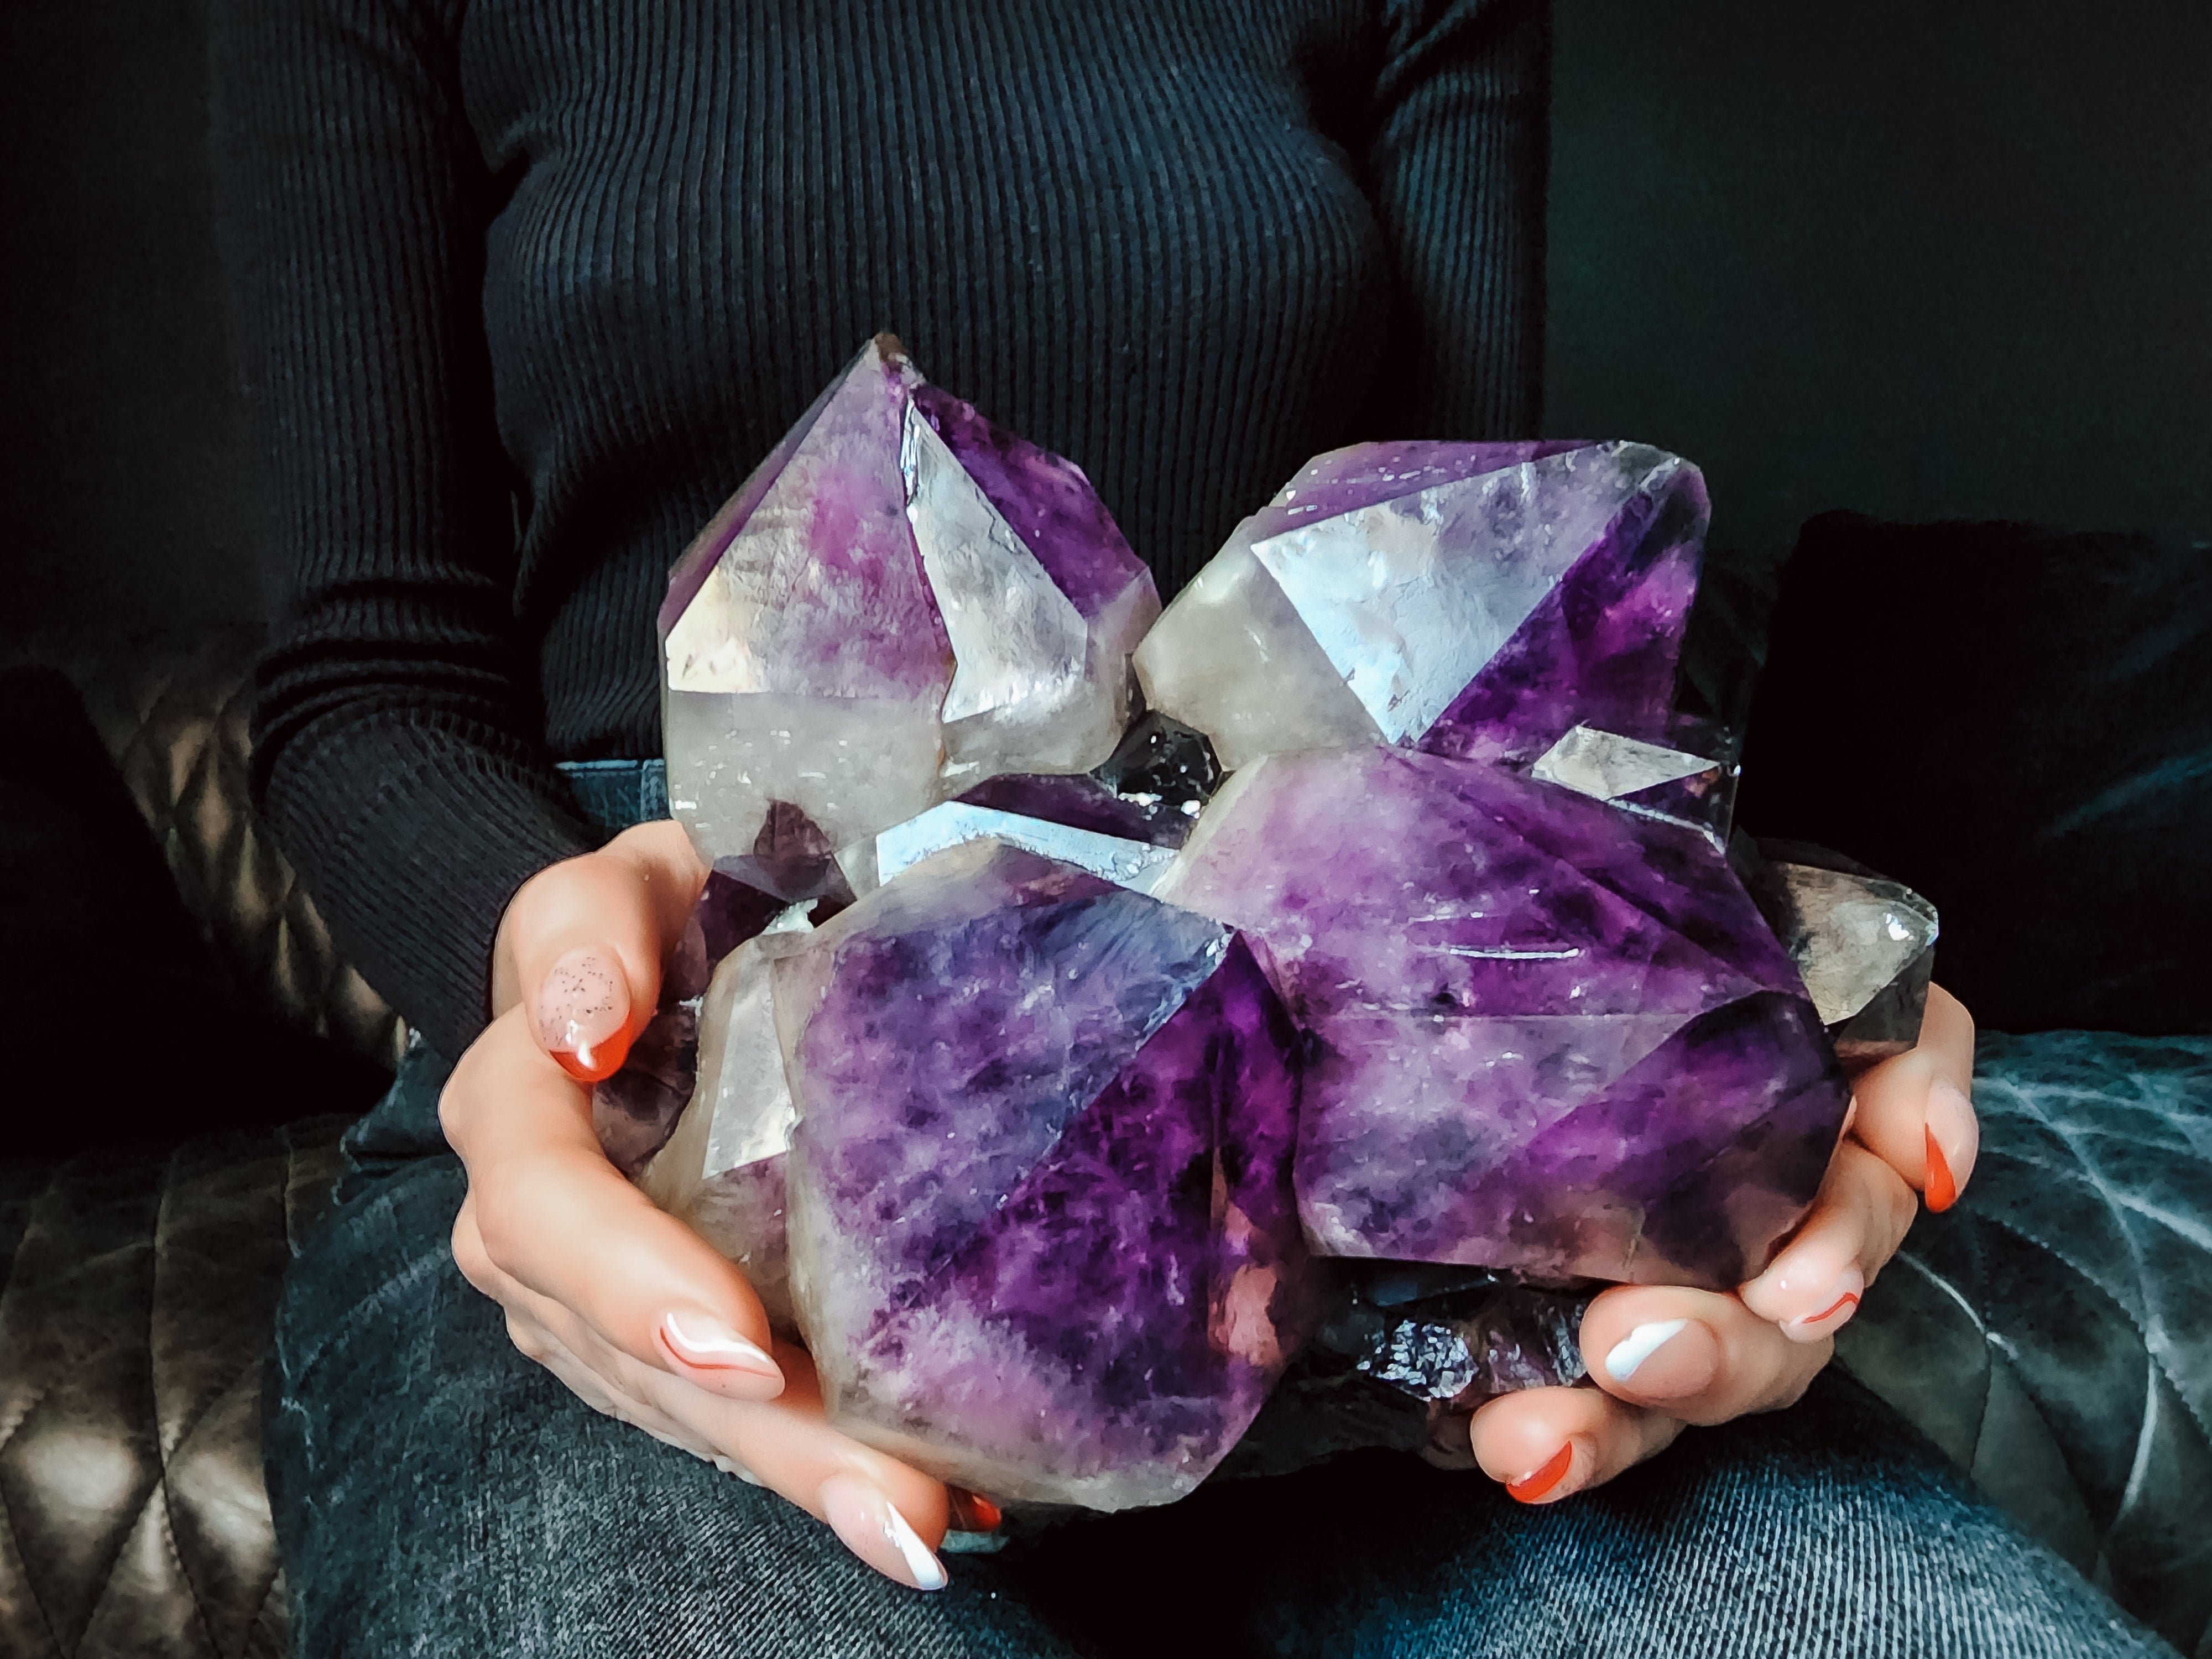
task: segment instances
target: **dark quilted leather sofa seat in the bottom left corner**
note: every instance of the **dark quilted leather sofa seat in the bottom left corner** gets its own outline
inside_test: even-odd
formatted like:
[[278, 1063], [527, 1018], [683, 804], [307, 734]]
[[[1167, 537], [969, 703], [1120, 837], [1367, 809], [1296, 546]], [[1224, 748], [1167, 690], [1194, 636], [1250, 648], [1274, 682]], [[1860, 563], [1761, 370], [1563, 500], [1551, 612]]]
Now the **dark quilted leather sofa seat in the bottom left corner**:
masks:
[[261, 1358], [343, 1124], [0, 1164], [0, 1652], [285, 1652]]

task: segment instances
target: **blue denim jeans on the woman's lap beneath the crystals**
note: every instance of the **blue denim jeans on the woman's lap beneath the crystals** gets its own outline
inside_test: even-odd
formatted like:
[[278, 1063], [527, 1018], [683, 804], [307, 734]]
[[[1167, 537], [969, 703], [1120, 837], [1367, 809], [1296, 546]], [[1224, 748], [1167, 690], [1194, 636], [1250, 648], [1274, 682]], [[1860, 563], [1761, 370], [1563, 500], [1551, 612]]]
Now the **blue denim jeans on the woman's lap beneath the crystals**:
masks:
[[[606, 772], [580, 799], [637, 816]], [[1559, 1504], [1358, 1453], [958, 1555], [918, 1595], [509, 1345], [447, 1248], [445, 1073], [414, 1048], [354, 1126], [285, 1285], [268, 1473], [303, 1659], [2170, 1652], [1834, 1371]]]

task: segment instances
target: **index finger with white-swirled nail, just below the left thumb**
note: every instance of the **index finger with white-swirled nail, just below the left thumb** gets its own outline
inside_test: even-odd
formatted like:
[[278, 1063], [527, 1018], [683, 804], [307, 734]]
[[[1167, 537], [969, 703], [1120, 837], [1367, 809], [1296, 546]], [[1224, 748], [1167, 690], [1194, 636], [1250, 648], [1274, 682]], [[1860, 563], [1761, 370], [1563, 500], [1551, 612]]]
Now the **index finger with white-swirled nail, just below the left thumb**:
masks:
[[737, 1400], [781, 1394], [752, 1285], [606, 1161], [591, 1093], [546, 1057], [520, 1006], [453, 1068], [440, 1117], [500, 1272], [641, 1365]]

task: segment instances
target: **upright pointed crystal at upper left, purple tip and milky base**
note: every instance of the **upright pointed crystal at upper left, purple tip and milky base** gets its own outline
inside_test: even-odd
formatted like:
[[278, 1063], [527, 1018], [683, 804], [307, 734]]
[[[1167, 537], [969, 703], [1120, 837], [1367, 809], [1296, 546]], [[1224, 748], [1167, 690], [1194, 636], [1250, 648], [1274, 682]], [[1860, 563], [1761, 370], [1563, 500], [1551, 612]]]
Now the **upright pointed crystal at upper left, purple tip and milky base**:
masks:
[[670, 805], [708, 863], [812, 896], [763, 838], [803, 825], [818, 872], [980, 779], [1106, 759], [1157, 613], [1084, 476], [883, 336], [670, 577]]

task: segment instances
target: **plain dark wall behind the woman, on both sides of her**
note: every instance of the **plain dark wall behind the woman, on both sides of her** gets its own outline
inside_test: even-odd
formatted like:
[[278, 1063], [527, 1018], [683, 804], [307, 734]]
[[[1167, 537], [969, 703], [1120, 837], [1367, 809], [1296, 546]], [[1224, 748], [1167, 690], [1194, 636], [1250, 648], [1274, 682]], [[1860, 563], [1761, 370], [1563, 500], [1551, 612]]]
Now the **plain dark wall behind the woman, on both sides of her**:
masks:
[[[0, 7], [0, 644], [254, 608], [197, 0]], [[2212, 535], [2212, 4], [1559, 0], [1548, 427], [1829, 507]]]

